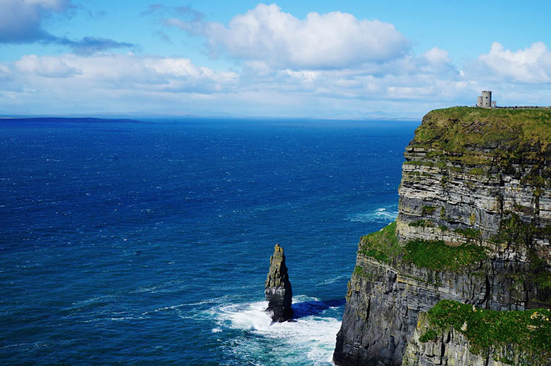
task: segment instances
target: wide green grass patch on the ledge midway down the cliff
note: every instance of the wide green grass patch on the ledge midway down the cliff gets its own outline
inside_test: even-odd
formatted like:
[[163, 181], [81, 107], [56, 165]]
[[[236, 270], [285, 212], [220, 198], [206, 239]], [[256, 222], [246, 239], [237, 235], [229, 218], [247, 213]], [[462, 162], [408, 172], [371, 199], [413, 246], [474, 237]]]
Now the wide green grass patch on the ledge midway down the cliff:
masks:
[[403, 261], [431, 270], [460, 270], [486, 258], [484, 248], [473, 244], [448, 246], [443, 241], [412, 240], [403, 248]]

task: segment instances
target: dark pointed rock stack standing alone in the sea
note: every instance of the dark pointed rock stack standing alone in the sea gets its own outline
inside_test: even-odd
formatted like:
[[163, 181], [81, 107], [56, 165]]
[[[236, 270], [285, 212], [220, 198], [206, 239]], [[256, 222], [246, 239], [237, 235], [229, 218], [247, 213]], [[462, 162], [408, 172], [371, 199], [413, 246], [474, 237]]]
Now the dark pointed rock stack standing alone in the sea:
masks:
[[293, 316], [291, 300], [293, 291], [285, 265], [283, 248], [275, 245], [274, 254], [269, 258], [269, 271], [265, 286], [268, 308], [266, 311], [273, 313], [272, 321], [288, 321]]

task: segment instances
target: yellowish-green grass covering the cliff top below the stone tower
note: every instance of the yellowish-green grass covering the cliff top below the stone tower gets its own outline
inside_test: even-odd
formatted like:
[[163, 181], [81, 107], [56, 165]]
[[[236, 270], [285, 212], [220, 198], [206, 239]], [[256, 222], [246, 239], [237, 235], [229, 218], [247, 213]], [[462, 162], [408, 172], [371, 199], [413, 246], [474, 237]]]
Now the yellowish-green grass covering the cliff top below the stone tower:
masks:
[[462, 152], [465, 147], [551, 149], [551, 109], [453, 107], [431, 110], [413, 144]]

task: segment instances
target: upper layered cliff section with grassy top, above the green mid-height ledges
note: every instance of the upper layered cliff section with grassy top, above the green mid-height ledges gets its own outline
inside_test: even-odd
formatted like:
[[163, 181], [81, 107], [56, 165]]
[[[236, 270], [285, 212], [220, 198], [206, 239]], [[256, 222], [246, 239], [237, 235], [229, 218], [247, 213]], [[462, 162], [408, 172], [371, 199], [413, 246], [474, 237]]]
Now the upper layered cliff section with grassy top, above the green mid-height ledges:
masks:
[[[531, 248], [551, 264], [545, 230], [538, 230], [551, 225], [550, 117], [476, 108], [427, 114], [404, 154], [400, 241], [475, 240], [494, 258], [516, 261], [526, 261]], [[524, 226], [510, 233], [519, 237], [497, 239], [500, 225], [515, 224]]]

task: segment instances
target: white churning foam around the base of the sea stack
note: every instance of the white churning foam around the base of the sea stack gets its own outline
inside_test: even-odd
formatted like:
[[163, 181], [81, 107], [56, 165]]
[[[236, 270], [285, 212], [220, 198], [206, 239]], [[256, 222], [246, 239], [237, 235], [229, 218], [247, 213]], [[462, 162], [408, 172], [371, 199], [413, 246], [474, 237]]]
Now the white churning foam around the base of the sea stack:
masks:
[[[308, 301], [317, 302], [318, 299], [298, 296], [294, 304]], [[228, 351], [254, 365], [332, 364], [340, 320], [308, 315], [272, 324], [266, 307], [267, 302], [253, 302], [213, 309], [218, 324], [215, 329], [226, 327], [248, 332], [234, 339]]]

